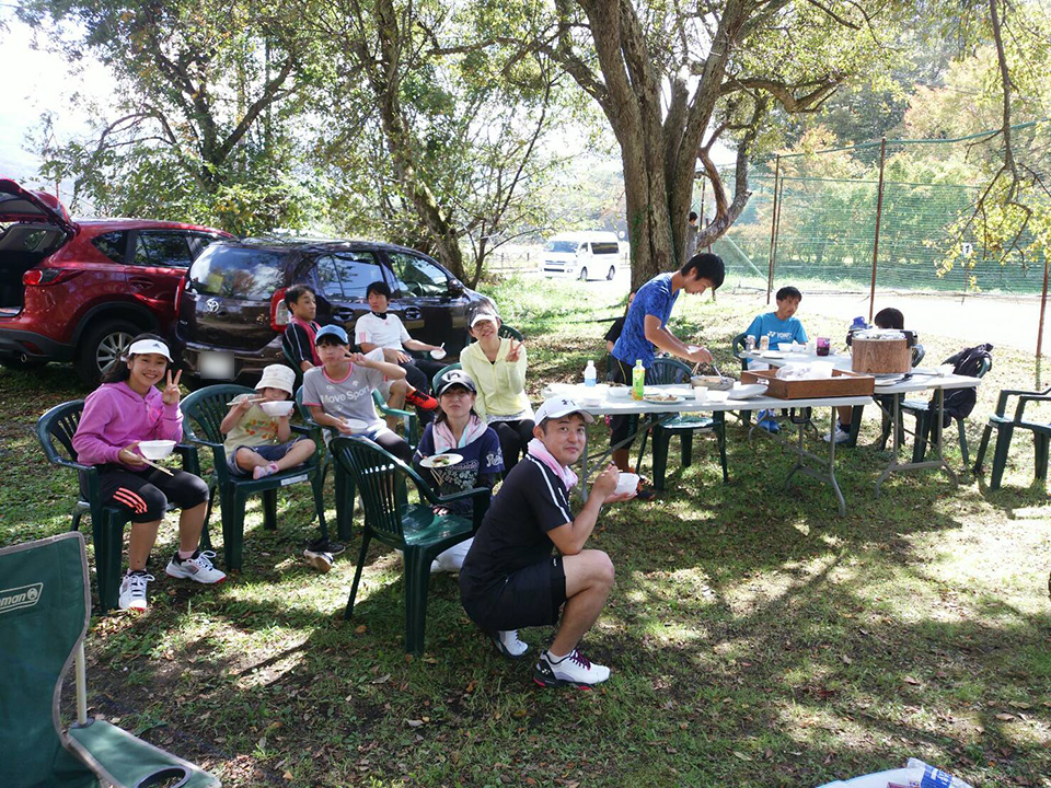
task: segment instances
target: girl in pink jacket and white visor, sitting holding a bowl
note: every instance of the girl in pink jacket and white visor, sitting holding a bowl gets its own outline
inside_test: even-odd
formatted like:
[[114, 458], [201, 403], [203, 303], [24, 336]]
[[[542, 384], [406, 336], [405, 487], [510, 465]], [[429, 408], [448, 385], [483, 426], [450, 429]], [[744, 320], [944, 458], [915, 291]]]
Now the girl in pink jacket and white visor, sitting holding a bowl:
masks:
[[114, 361], [103, 373], [102, 385], [88, 395], [73, 436], [77, 460], [99, 470], [103, 499], [131, 515], [128, 573], [120, 583], [118, 600], [122, 610], [146, 610], [146, 586], [153, 580], [146, 572], [146, 561], [169, 501], [182, 513], [178, 549], [164, 571], [200, 583], [217, 583], [227, 577], [211, 565], [215, 553], [197, 549], [208, 508], [208, 485], [185, 471], [165, 473], [151, 467], [138, 451], [142, 441], [182, 440], [182, 372], [172, 376], [171, 363], [172, 355], [159, 336], [137, 336], [127, 356]]

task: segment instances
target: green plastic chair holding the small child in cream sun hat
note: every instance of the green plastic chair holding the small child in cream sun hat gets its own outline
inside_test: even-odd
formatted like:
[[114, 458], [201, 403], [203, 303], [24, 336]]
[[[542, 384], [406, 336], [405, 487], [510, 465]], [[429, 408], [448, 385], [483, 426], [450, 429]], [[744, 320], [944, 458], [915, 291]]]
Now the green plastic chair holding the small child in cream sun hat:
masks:
[[[228, 403], [239, 394], [252, 394], [253, 389], [223, 383], [195, 391], [180, 404], [183, 412], [183, 436], [187, 443], [211, 449], [213, 459], [212, 477], [219, 493], [219, 507], [222, 515], [222, 551], [226, 567], [240, 571], [244, 548], [244, 508], [249, 496], [263, 496], [263, 528], [277, 528], [277, 491], [297, 482], [311, 483], [314, 490], [314, 509], [323, 538], [328, 537], [325, 524], [325, 500], [323, 496], [324, 478], [316, 454], [304, 465], [289, 468], [261, 479], [251, 476], [233, 476], [227, 467], [227, 454], [222, 447], [222, 432], [219, 425], [229, 413]], [[292, 431], [310, 434], [310, 430], [292, 425]], [[209, 486], [211, 483], [209, 482]]]

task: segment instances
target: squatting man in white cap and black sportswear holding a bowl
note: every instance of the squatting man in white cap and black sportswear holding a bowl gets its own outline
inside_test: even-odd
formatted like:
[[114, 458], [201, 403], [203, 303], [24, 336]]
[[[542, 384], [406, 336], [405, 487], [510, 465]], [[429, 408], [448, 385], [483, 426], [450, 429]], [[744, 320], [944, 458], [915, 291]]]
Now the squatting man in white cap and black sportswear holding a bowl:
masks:
[[496, 633], [558, 624], [562, 611], [555, 639], [533, 669], [541, 686], [588, 688], [610, 677], [609, 668], [592, 664], [577, 649], [613, 588], [610, 557], [584, 545], [602, 505], [635, 494], [614, 493], [619, 474], [610, 465], [573, 515], [569, 488], [577, 476], [568, 466], [580, 457], [592, 421], [566, 397], [540, 406], [526, 459], [508, 473], [460, 569], [463, 607], [498, 649]]

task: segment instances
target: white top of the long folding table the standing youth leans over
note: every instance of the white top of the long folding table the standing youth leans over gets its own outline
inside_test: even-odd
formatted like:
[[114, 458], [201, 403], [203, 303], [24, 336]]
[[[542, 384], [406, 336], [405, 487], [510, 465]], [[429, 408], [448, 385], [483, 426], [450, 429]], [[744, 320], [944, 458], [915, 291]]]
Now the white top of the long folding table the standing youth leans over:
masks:
[[[673, 414], [673, 413], [716, 413], [726, 410], [766, 410], [788, 407], [836, 407], [839, 405], [871, 405], [873, 398], [864, 396], [848, 397], [812, 397], [809, 399], [779, 399], [770, 396], [755, 396], [750, 399], [725, 399], [712, 402], [695, 399], [693, 389], [688, 385], [647, 385], [646, 391], [674, 394], [683, 397], [678, 403], [651, 403], [645, 399], [610, 398], [609, 386], [597, 384], [594, 389], [587, 389], [584, 383], [551, 383], [544, 389], [544, 396], [568, 396], [576, 399], [580, 406], [593, 416], [627, 416], [631, 414]], [[588, 396], [601, 397], [596, 405], [585, 404]]]

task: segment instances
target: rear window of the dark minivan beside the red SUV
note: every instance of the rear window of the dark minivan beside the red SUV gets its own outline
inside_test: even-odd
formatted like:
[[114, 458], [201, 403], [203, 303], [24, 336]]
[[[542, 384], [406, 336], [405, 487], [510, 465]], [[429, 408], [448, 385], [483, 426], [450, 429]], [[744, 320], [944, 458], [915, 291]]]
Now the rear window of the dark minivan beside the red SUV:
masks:
[[194, 290], [204, 296], [268, 299], [285, 285], [287, 256], [279, 252], [212, 245], [189, 269]]

